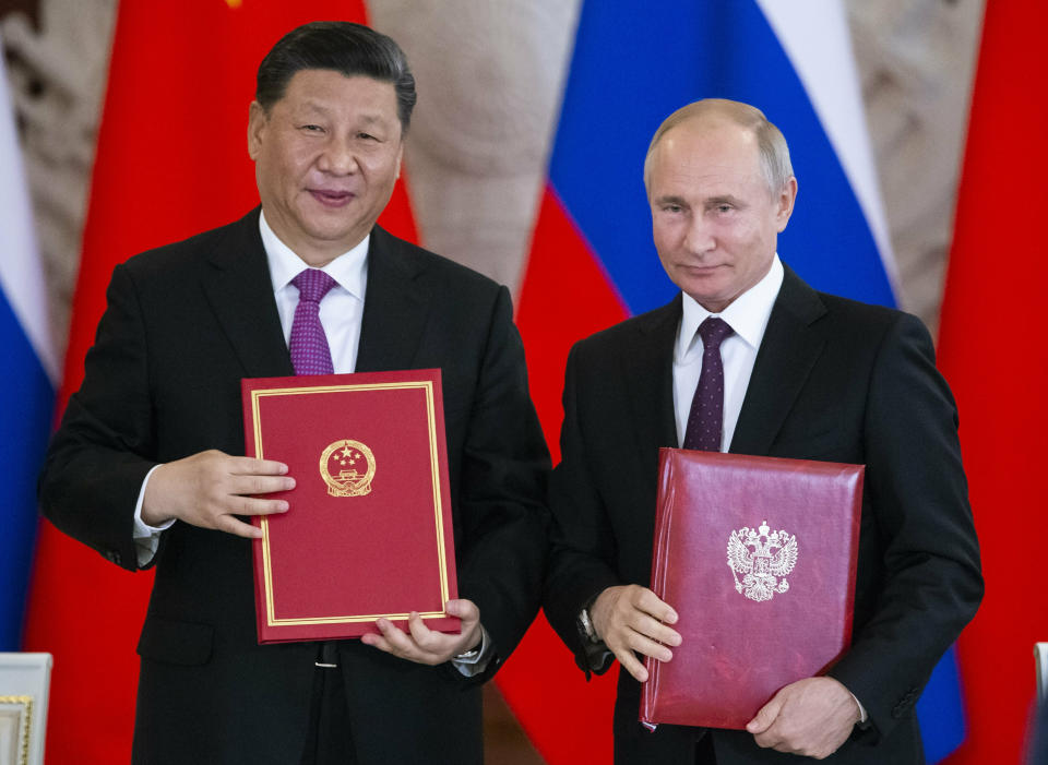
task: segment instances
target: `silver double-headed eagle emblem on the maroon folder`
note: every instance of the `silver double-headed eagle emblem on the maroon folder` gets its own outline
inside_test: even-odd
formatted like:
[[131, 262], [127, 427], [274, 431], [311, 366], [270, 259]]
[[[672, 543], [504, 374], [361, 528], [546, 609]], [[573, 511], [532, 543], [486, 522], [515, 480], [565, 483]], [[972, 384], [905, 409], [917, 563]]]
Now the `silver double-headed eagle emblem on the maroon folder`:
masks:
[[745, 588], [750, 600], [771, 600], [775, 593], [789, 589], [785, 577], [796, 563], [797, 537], [782, 529], [772, 531], [767, 521], [758, 529], [743, 526], [728, 537], [728, 565], [735, 589], [742, 593]]

